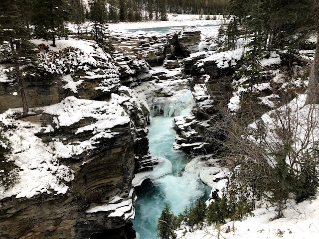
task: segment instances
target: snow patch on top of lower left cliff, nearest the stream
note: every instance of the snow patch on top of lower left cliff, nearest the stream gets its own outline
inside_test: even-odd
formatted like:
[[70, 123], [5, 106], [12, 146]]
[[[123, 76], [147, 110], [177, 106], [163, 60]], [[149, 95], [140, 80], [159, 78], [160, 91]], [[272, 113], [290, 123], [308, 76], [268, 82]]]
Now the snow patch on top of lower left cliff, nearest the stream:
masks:
[[[52, 144], [56, 149], [56, 154], [61, 158], [68, 158], [71, 155], [79, 155], [84, 151], [94, 149], [94, 144], [100, 138], [111, 138], [117, 132], [110, 129], [115, 125], [130, 122], [130, 118], [120, 104], [130, 98], [111, 94], [109, 102], [80, 100], [75, 97], [67, 97], [61, 103], [42, 108], [44, 113], [57, 116], [59, 126], [70, 126], [81, 119], [92, 118], [91, 124], [77, 129], [76, 134], [84, 131], [92, 131], [92, 137], [82, 142], [64, 144], [56, 139]], [[35, 109], [37, 110], [37, 109]]]

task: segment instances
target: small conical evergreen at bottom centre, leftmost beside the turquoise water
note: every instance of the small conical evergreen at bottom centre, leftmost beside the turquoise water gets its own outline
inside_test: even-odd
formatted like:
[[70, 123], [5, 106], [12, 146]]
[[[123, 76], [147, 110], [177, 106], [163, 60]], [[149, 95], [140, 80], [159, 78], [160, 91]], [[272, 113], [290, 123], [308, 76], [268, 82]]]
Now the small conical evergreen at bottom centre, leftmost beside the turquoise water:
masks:
[[176, 217], [171, 212], [169, 206], [166, 204], [160, 214], [159, 223], [157, 227], [158, 237], [160, 239], [176, 239], [174, 230], [176, 229]]

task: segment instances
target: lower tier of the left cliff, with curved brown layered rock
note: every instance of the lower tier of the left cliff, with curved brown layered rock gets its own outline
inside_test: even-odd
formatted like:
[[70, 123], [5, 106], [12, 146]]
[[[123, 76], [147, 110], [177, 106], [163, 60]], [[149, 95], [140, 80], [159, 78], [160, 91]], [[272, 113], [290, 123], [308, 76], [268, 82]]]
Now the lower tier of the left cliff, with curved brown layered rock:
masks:
[[[39, 148], [32, 149], [33, 144], [25, 145], [32, 138], [25, 135], [21, 138], [21, 146], [16, 148], [22, 150], [16, 159], [22, 170], [20, 173], [29, 172], [35, 178], [29, 178], [26, 186], [18, 181], [0, 195], [1, 238], [83, 239], [109, 230], [124, 238], [125, 225], [135, 215], [136, 200], [132, 179], [138, 131], [134, 124], [138, 120], [133, 122], [128, 115], [134, 107], [131, 99], [115, 94], [106, 102], [71, 97], [57, 105], [41, 108], [42, 112], [35, 109], [34, 116], [12, 119], [10, 127], [21, 133], [23, 128], [37, 131], [35, 135], [44, 143], [39, 141], [35, 144]], [[50, 124], [44, 126], [43, 121]], [[140, 127], [145, 125], [145, 120], [140, 121]], [[46, 130], [48, 127], [50, 130]], [[13, 137], [11, 131], [8, 129], [6, 133]], [[8, 136], [8, 139], [12, 141], [12, 137]], [[36, 151], [33, 162], [24, 160], [30, 147]], [[48, 152], [47, 158], [42, 158], [42, 149]], [[14, 155], [7, 157], [14, 159]], [[56, 170], [51, 180], [54, 175], [61, 174], [60, 166], [45, 169], [45, 165], [51, 164], [64, 165], [71, 170], [69, 174], [64, 170], [66, 174], [56, 182], [64, 185], [65, 193], [45, 184], [45, 174]], [[43, 170], [47, 173], [37, 177]], [[24, 179], [23, 175], [18, 177]], [[68, 178], [70, 180], [66, 181]], [[31, 192], [23, 192], [28, 189]], [[15, 197], [17, 190], [21, 191], [19, 197]], [[13, 197], [8, 197], [10, 194]], [[114, 234], [109, 238], [121, 237]]]

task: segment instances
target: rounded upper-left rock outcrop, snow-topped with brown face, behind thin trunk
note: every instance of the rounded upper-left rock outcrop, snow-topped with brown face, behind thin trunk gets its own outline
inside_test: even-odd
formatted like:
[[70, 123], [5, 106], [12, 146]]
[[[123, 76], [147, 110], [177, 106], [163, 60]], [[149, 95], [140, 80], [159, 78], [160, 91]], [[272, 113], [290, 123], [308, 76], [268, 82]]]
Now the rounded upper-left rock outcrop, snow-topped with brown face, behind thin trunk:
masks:
[[[69, 47], [63, 50], [37, 54], [38, 67], [20, 67], [28, 107], [57, 104], [68, 96], [93, 100], [119, 88], [118, 70], [96, 43], [83, 41], [85, 50], [74, 47], [76, 40], [66, 43]], [[16, 72], [14, 68], [4, 70], [7, 74], [6, 80], [0, 80], [0, 113], [22, 107]]]

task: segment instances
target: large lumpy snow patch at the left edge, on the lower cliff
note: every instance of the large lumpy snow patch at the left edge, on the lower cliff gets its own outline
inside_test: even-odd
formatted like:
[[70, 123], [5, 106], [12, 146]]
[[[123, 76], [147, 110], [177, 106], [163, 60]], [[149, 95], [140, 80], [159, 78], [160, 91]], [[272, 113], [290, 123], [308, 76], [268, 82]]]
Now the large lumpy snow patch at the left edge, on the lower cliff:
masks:
[[15, 196], [31, 198], [40, 193], [64, 194], [69, 182], [74, 179], [74, 171], [60, 164], [54, 149], [34, 134], [41, 129], [38, 124], [14, 120], [14, 111], [8, 110], [0, 115], [0, 122], [12, 125], [5, 132], [10, 142], [11, 153], [7, 161], [13, 161], [19, 170], [16, 182], [7, 190], [0, 187], [0, 199]]

